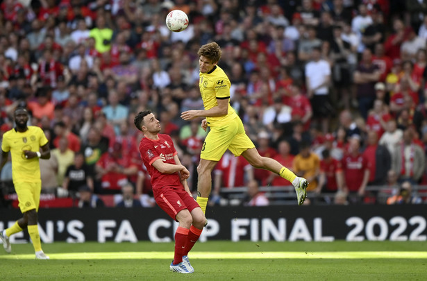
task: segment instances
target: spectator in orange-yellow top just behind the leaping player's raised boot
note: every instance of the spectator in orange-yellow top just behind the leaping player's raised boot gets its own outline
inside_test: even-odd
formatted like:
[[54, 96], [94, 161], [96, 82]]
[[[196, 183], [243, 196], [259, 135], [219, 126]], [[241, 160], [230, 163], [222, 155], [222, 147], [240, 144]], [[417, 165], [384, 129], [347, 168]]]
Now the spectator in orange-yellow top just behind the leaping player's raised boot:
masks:
[[301, 142], [299, 146], [299, 154], [294, 158], [292, 171], [296, 174], [296, 176], [303, 177], [308, 181], [307, 191], [316, 190], [319, 168], [319, 157], [310, 151], [309, 143]]

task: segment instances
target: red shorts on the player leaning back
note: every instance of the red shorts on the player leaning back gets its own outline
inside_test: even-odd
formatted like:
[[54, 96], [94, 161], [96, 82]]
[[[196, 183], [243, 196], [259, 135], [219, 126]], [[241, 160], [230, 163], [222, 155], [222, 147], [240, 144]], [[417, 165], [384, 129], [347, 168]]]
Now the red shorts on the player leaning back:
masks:
[[155, 199], [157, 205], [174, 220], [176, 220], [176, 214], [181, 210], [187, 209], [191, 212], [196, 207], [200, 207], [184, 189], [162, 188], [156, 194]]

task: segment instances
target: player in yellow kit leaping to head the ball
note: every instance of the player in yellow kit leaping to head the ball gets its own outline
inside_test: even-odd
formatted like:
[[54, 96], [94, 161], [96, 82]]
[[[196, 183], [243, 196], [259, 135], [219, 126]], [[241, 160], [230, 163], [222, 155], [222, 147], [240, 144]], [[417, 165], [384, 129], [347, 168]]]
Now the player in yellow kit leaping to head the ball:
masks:
[[206, 117], [201, 127], [210, 132], [206, 136], [201, 150], [201, 160], [197, 172], [197, 203], [206, 211], [208, 197], [212, 188], [211, 173], [217, 162], [229, 149], [235, 156], [242, 155], [253, 167], [267, 169], [292, 182], [295, 187], [298, 205], [302, 205], [307, 196], [308, 182], [297, 177], [292, 171], [268, 157], [262, 157], [253, 142], [246, 135], [242, 120], [230, 106], [230, 80], [217, 65], [221, 58], [221, 48], [215, 42], [201, 46], [198, 51], [200, 80], [199, 88], [204, 110], [188, 110], [181, 114], [184, 120]]

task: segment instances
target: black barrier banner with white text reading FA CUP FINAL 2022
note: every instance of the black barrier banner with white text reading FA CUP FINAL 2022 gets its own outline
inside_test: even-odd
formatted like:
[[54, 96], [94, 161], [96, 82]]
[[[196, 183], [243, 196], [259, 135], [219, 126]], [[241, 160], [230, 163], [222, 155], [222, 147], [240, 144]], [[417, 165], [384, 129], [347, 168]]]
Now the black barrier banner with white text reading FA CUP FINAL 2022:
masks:
[[[426, 205], [208, 207], [201, 241], [426, 241]], [[19, 210], [1, 210], [0, 229]], [[160, 208], [41, 209], [40, 238], [54, 241], [173, 241], [178, 223]], [[10, 237], [26, 243], [28, 233]]]

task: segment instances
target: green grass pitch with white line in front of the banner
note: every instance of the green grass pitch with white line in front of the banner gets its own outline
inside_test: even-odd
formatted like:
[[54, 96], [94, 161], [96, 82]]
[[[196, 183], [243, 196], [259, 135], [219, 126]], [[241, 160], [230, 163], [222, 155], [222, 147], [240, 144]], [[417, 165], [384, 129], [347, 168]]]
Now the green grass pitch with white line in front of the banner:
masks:
[[426, 242], [208, 241], [189, 257], [195, 273], [169, 272], [172, 243], [31, 244], [0, 253], [1, 280], [427, 280]]

